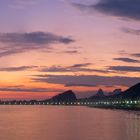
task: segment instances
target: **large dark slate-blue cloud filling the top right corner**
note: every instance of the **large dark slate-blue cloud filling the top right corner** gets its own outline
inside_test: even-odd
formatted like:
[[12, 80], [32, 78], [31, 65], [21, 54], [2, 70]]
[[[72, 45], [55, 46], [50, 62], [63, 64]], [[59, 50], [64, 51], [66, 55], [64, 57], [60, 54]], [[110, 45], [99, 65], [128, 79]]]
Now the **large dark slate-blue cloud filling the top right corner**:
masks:
[[98, 11], [110, 16], [140, 20], [140, 0], [100, 0], [96, 4], [72, 3], [72, 5], [91, 13]]

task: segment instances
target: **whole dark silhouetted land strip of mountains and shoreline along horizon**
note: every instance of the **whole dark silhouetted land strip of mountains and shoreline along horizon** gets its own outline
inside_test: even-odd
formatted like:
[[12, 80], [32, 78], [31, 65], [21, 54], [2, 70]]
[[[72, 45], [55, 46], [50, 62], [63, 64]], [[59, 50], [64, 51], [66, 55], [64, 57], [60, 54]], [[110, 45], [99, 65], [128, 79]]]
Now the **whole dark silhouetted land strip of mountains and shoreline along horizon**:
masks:
[[[114, 93], [116, 93], [116, 91], [120, 91], [120, 90], [114, 90]], [[102, 104], [103, 102], [114, 102], [114, 101], [137, 101], [140, 100], [140, 83], [128, 88], [127, 90], [121, 92], [121, 93], [117, 93], [117, 94], [113, 94], [113, 95], [104, 95], [104, 92], [102, 89], [99, 89], [98, 92], [89, 97], [89, 98], [81, 98], [81, 99], [77, 99], [74, 92], [72, 90], [68, 90], [66, 92], [63, 92], [61, 94], [58, 94], [56, 96], [53, 96], [51, 99], [47, 99], [47, 100], [13, 100], [13, 101], [1, 101], [0, 100], [0, 105], [57, 105], [58, 102], [59, 104], [61, 104], [62, 102], [64, 103], [63, 105], [65, 105], [65, 103], [67, 103], [67, 105], [69, 105], [68, 102], [82, 102], [84, 105], [86, 105], [84, 102], [95, 102], [96, 105], [98, 105], [97, 102], [99, 102], [99, 105]], [[74, 105], [76, 105], [76, 103], [74, 103]], [[78, 104], [79, 105], [79, 104]], [[102, 104], [100, 107], [106, 107], [106, 105]], [[115, 107], [115, 108], [123, 108], [120, 105], [108, 105], [108, 107]], [[126, 106], [128, 107], [128, 106]], [[136, 107], [131, 105], [130, 108], [132, 107], [132, 109], [135, 109]], [[124, 107], [125, 108], [125, 107]], [[138, 106], [139, 108], [139, 106]]]

